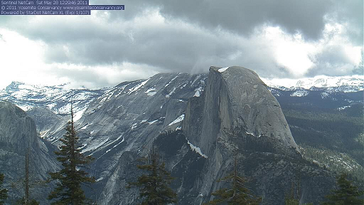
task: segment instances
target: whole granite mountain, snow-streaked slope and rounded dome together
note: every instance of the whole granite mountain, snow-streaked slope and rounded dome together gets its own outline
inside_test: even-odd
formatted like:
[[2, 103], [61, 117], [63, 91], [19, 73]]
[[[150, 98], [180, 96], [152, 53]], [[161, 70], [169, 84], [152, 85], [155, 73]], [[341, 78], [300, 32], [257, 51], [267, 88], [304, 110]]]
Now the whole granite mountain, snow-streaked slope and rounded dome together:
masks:
[[[304, 201], [318, 200], [314, 197], [330, 189], [331, 174], [297, 161], [301, 160], [299, 154], [293, 154], [296, 144], [272, 96], [274, 90], [284, 96], [286, 91], [270, 88], [269, 93], [259, 77], [245, 68], [211, 68], [209, 75], [160, 73], [120, 83], [85, 100], [89, 104], [76, 122], [77, 132], [82, 152], [95, 157], [90, 174], [97, 178], [95, 189], [87, 194], [95, 197], [99, 193], [98, 204], [136, 204], [137, 189], [127, 190], [125, 184], [135, 179], [139, 173], [136, 159], [155, 141], [166, 167], [178, 177], [173, 188], [182, 204], [200, 204], [210, 199], [212, 191], [226, 186], [216, 179], [230, 172], [236, 150], [240, 171], [251, 176], [250, 186], [255, 194], [264, 196], [265, 204], [282, 201], [278, 196], [289, 191], [297, 172], [305, 176]], [[49, 118], [53, 119], [50, 124], [63, 125], [65, 118], [43, 108], [28, 114], [38, 116], [38, 130], [48, 130], [43, 137], [58, 144], [63, 126], [46, 125], [42, 120]], [[267, 114], [272, 117], [264, 117]], [[173, 132], [166, 134], [166, 130]]]

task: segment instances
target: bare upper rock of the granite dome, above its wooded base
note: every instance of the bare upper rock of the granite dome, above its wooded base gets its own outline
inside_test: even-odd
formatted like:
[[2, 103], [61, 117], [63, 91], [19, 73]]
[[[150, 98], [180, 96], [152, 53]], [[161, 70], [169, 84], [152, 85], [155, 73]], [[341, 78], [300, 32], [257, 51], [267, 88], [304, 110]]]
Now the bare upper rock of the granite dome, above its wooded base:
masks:
[[280, 148], [299, 152], [279, 102], [252, 70], [210, 67], [204, 94], [188, 102], [183, 121], [188, 140], [204, 153], [211, 152], [221, 130], [268, 137]]

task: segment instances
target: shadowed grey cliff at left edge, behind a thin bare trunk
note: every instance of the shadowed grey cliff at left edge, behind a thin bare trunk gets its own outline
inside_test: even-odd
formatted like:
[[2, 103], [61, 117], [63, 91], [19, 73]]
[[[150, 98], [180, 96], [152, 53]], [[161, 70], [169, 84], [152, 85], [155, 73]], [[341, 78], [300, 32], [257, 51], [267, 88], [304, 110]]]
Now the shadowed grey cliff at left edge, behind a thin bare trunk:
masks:
[[[47, 179], [58, 164], [51, 157], [53, 146], [36, 135], [36, 124], [19, 107], [0, 100], [0, 172], [5, 174], [5, 186], [9, 189], [9, 200], [23, 196], [25, 175], [25, 154], [29, 149], [29, 172], [31, 184], [36, 189], [31, 197], [45, 199], [49, 187], [34, 184], [37, 180]], [[15, 185], [15, 187], [14, 187]]]

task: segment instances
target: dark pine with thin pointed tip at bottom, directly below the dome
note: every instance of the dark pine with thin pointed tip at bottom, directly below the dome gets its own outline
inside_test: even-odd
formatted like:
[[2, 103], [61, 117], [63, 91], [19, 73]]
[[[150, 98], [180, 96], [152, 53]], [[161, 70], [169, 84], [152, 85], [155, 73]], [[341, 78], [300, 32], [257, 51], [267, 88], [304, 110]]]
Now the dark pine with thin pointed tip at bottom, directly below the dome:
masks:
[[230, 181], [232, 188], [219, 189], [213, 193], [216, 199], [209, 201], [208, 204], [259, 204], [262, 199], [260, 197], [253, 196], [250, 194], [250, 189], [248, 189], [244, 184], [247, 182], [246, 179], [239, 177], [237, 174], [237, 158], [235, 157], [234, 172], [228, 177], [218, 180], [218, 182]]

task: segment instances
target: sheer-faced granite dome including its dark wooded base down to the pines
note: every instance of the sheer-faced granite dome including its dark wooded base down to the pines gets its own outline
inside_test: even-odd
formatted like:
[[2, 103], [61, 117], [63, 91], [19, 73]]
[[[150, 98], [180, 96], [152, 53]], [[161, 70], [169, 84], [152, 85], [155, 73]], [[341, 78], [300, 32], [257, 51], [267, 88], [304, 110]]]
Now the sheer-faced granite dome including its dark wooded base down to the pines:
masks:
[[279, 103], [252, 70], [210, 67], [203, 95], [188, 101], [182, 130], [205, 156], [193, 188], [181, 194], [190, 196], [188, 204], [228, 186], [217, 179], [232, 172], [234, 156], [262, 204], [284, 203], [297, 181], [302, 201], [320, 200], [333, 184], [331, 174], [302, 159]]

